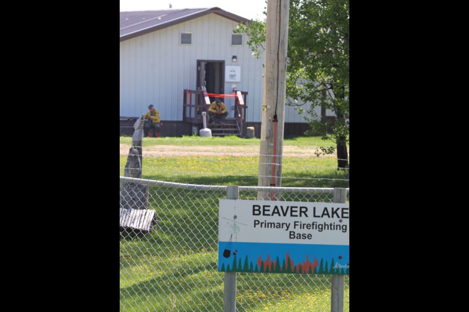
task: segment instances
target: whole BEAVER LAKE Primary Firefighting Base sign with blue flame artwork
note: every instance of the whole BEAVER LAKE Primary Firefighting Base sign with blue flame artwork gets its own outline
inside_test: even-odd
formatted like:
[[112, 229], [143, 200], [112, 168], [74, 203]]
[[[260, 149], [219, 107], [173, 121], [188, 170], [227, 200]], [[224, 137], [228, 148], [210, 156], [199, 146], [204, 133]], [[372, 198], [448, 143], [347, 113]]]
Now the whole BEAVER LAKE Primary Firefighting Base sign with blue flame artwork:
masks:
[[350, 204], [220, 199], [218, 271], [349, 274]]

